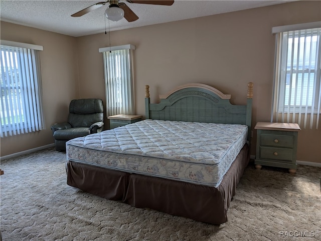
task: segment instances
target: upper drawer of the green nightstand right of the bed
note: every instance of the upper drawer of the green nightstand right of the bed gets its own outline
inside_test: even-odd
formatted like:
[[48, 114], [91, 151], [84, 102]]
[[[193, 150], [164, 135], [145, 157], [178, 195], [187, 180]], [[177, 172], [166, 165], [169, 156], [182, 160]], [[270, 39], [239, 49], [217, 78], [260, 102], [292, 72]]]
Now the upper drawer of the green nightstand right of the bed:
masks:
[[293, 148], [294, 136], [262, 133], [260, 135], [260, 145]]

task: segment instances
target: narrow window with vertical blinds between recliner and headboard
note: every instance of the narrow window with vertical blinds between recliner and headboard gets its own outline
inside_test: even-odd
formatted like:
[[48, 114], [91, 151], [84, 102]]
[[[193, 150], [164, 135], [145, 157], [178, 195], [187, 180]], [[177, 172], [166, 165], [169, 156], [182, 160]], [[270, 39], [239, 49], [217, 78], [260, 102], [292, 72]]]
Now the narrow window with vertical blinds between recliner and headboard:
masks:
[[104, 57], [107, 115], [134, 114], [132, 45], [99, 49]]

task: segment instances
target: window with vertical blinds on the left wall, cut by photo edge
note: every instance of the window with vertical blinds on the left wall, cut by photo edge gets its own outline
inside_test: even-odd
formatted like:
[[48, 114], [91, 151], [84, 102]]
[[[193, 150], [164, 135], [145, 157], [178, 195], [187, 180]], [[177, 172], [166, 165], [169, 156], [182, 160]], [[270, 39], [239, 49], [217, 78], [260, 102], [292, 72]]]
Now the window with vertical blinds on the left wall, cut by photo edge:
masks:
[[38, 50], [42, 46], [1, 41], [1, 137], [45, 128]]

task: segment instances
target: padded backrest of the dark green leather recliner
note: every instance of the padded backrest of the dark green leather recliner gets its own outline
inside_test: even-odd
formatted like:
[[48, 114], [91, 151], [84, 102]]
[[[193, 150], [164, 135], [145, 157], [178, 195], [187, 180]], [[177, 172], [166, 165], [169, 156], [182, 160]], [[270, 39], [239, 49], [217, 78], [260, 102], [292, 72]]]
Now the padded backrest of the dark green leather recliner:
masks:
[[103, 121], [103, 103], [101, 99], [78, 99], [69, 104], [68, 122], [72, 127], [90, 127]]

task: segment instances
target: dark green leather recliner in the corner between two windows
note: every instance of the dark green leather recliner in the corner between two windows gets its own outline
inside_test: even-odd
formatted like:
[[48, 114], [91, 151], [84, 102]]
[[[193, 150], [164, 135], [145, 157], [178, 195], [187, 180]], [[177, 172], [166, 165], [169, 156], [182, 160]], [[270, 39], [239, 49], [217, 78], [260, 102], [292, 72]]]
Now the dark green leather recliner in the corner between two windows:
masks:
[[66, 150], [66, 142], [76, 137], [101, 132], [103, 123], [101, 99], [78, 99], [69, 104], [68, 122], [51, 126], [56, 150]]

